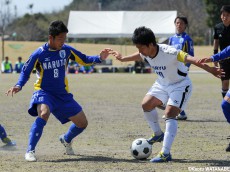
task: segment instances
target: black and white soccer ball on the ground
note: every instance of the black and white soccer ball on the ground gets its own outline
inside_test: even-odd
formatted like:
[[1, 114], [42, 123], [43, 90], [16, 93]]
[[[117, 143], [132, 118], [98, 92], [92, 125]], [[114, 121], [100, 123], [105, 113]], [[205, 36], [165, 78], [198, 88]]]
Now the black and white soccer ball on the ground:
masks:
[[147, 159], [152, 153], [152, 145], [146, 139], [139, 138], [133, 141], [130, 151], [131, 155], [136, 159]]

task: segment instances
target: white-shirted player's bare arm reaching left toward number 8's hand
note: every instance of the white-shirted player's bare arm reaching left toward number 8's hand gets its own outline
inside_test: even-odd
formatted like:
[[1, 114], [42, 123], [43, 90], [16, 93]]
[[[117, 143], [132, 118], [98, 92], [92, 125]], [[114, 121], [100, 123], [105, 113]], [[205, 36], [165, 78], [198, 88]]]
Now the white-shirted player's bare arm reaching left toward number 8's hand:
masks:
[[111, 51], [110, 54], [112, 54], [117, 60], [121, 62], [142, 60], [139, 52], [124, 57], [118, 51]]

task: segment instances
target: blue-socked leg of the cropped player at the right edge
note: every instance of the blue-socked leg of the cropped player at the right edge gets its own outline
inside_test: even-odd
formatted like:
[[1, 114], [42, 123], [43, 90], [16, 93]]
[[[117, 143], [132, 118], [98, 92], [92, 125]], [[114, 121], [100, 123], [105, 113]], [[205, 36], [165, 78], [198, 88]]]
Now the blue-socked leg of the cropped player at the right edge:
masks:
[[[224, 97], [221, 107], [227, 122], [230, 123], [230, 91], [228, 91]], [[227, 137], [227, 139], [230, 139], [230, 137]], [[228, 144], [226, 151], [230, 152], [230, 143]]]

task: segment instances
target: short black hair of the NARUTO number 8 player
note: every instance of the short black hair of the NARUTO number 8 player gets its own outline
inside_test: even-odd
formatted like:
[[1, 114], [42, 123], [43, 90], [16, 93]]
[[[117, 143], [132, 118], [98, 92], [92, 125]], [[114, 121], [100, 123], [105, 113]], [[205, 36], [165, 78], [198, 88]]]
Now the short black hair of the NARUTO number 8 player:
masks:
[[49, 35], [55, 37], [60, 33], [68, 33], [66, 25], [60, 20], [51, 22], [49, 27]]

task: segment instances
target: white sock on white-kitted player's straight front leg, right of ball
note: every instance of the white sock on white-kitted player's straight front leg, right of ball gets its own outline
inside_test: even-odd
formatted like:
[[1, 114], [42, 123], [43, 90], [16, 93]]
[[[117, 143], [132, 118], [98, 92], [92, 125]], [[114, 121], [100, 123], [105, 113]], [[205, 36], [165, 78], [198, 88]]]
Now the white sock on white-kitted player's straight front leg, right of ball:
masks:
[[161, 152], [163, 152], [164, 154], [169, 154], [170, 149], [172, 147], [172, 143], [177, 134], [177, 120], [167, 119], [165, 122], [166, 129]]

